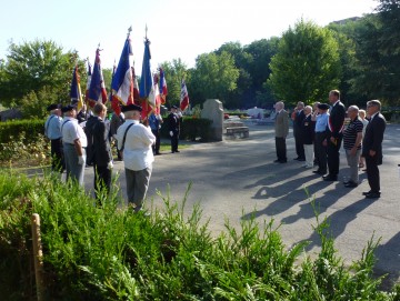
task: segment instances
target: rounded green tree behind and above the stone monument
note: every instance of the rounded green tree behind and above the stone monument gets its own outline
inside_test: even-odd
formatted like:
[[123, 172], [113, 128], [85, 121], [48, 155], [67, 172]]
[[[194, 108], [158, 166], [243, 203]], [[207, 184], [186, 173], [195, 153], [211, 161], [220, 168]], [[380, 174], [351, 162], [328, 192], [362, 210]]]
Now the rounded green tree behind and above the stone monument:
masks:
[[196, 68], [190, 70], [188, 89], [191, 91], [191, 103], [202, 103], [206, 99], [217, 98], [229, 103], [229, 92], [237, 89], [239, 70], [231, 54], [222, 51], [200, 54]]

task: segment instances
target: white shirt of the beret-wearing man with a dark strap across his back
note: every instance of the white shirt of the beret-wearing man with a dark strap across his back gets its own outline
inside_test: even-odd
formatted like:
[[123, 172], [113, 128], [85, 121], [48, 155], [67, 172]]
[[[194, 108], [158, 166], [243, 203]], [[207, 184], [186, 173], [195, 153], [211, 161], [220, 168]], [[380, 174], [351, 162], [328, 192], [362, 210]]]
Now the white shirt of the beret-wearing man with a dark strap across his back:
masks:
[[123, 163], [127, 169], [139, 171], [147, 169], [154, 161], [151, 146], [156, 142], [156, 137], [150, 127], [144, 127], [137, 120], [127, 119], [117, 130], [118, 149], [122, 148], [123, 136], [132, 123], [123, 146]]

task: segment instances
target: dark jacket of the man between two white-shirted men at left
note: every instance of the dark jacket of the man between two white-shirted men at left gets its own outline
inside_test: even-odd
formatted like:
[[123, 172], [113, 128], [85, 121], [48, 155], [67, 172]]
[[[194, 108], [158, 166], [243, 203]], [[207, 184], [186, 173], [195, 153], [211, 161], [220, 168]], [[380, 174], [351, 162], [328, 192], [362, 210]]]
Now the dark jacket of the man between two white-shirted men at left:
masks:
[[110, 141], [108, 139], [108, 130], [104, 121], [97, 118], [96, 123], [92, 127], [92, 153], [93, 163], [99, 167], [107, 167], [112, 161]]

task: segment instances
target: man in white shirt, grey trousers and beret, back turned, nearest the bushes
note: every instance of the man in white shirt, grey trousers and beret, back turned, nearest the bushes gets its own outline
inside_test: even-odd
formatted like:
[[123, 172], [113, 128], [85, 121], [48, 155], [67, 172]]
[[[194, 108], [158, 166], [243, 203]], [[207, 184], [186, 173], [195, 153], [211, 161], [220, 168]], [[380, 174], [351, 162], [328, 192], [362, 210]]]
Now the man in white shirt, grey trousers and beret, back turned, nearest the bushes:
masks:
[[122, 107], [126, 122], [117, 131], [118, 149], [123, 153], [128, 205], [134, 212], [143, 207], [154, 161], [151, 146], [156, 137], [149, 127], [139, 122], [141, 110], [136, 104]]

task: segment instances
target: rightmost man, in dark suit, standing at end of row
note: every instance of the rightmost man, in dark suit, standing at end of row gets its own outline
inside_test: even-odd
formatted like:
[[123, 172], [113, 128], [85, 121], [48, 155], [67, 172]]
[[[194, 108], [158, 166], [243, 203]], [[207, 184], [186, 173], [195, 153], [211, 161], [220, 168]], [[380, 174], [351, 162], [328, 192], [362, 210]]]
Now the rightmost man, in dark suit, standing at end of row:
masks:
[[366, 158], [368, 183], [371, 190], [362, 194], [368, 199], [380, 198], [378, 165], [382, 164], [382, 141], [386, 129], [386, 120], [380, 113], [380, 108], [381, 103], [379, 100], [370, 100], [367, 102], [367, 112], [371, 119], [362, 140], [362, 155]]

